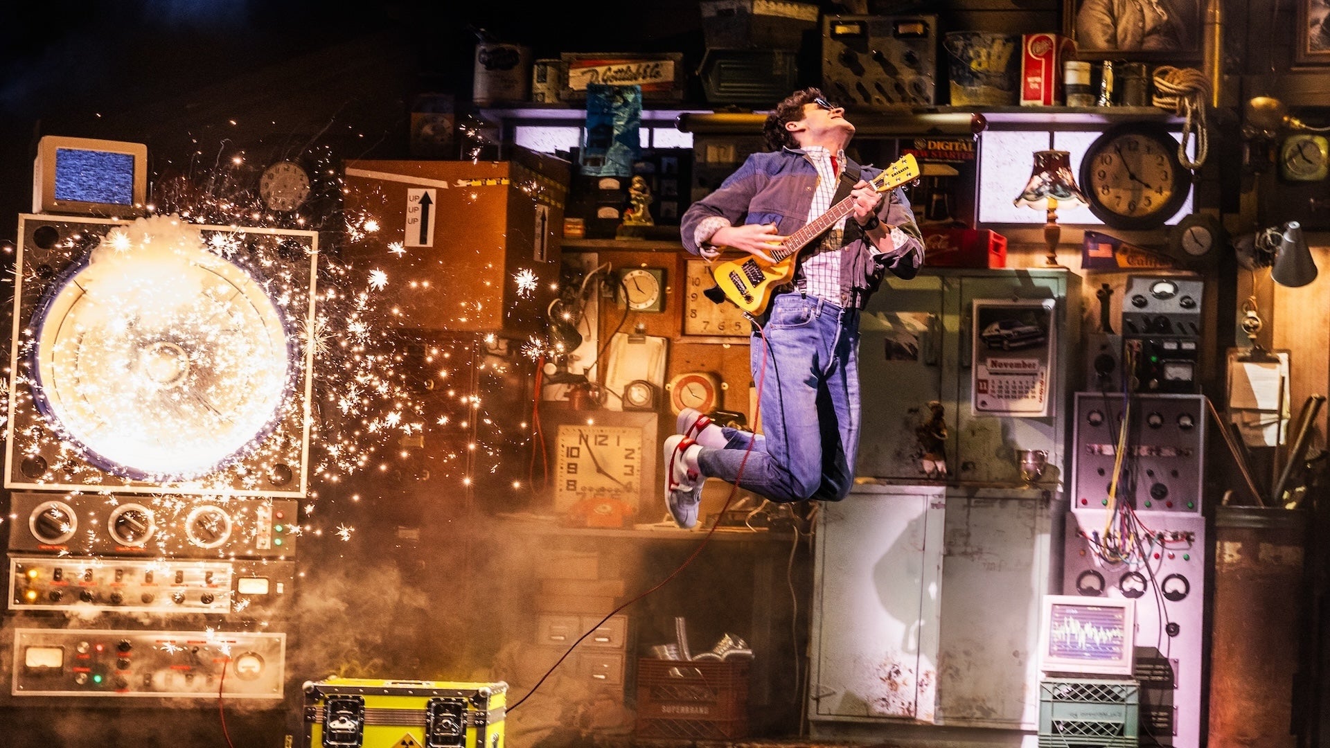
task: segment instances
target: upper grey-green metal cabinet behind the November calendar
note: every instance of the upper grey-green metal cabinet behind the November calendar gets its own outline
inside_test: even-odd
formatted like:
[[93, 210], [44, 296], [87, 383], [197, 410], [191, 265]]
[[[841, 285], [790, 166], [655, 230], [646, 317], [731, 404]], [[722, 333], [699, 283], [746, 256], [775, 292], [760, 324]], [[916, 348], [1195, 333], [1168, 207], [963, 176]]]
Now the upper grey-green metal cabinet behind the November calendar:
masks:
[[[976, 299], [1053, 299], [1049, 409], [1043, 417], [976, 414], [972, 390], [972, 310]], [[1041, 484], [1060, 486], [1064, 471], [1064, 403], [1068, 374], [1079, 362], [1080, 277], [1067, 270], [926, 269], [903, 281], [887, 277], [859, 325], [862, 437], [858, 475], [927, 479], [916, 429], [928, 403], [942, 403], [950, 478], [1020, 484], [1016, 450], [1044, 450]]]

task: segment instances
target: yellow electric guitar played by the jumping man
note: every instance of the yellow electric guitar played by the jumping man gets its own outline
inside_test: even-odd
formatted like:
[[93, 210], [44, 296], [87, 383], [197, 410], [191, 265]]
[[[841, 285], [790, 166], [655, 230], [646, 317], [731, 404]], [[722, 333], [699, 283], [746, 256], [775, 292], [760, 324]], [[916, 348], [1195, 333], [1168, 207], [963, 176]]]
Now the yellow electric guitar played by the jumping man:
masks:
[[[919, 164], [914, 154], [906, 153], [882, 170], [868, 184], [878, 192], [887, 192], [919, 178]], [[854, 197], [846, 197], [818, 216], [802, 229], [794, 232], [775, 249], [767, 250], [774, 262], [766, 262], [751, 254], [739, 260], [720, 262], [712, 268], [712, 278], [717, 287], [743, 311], [757, 315], [766, 311], [771, 294], [794, 277], [794, 261], [799, 250], [822, 236], [837, 221], [854, 210]]]

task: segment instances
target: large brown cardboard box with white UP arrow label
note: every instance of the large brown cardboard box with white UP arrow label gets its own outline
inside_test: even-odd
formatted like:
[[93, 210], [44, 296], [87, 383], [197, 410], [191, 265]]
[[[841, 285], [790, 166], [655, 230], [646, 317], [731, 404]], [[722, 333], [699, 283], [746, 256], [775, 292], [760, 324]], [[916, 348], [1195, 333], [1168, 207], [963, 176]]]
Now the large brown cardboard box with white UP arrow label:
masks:
[[355, 226], [364, 234], [343, 257], [387, 274], [384, 293], [399, 301], [406, 326], [543, 331], [559, 278], [568, 161], [515, 148], [511, 161], [350, 161], [344, 172], [348, 224], [374, 218], [378, 230]]

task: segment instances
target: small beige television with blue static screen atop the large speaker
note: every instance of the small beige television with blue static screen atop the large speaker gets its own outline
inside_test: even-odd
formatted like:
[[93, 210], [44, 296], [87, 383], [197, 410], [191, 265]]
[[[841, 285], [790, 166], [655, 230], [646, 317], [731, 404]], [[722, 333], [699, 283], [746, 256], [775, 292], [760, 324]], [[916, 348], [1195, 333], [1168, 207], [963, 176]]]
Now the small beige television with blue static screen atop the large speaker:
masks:
[[148, 146], [45, 136], [33, 164], [33, 210], [104, 217], [142, 214]]

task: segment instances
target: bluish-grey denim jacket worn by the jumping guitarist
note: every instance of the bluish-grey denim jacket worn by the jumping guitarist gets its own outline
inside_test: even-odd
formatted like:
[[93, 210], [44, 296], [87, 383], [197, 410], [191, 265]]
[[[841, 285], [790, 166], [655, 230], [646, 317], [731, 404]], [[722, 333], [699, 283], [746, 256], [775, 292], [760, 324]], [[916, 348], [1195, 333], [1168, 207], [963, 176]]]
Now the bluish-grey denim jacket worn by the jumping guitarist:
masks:
[[[875, 166], [861, 166], [864, 180], [872, 180], [880, 172]], [[721, 186], [684, 213], [680, 226], [684, 249], [700, 253], [694, 233], [697, 225], [712, 216], [722, 216], [734, 226], [775, 224], [781, 236], [790, 236], [807, 222], [817, 184], [818, 172], [803, 150], [786, 148], [754, 153]], [[923, 265], [923, 238], [903, 190], [898, 188], [888, 193], [878, 218], [887, 226], [899, 228], [910, 240], [890, 253], [875, 253], [858, 230], [858, 224], [853, 218], [846, 221], [845, 252], [841, 256], [841, 298], [845, 307], [862, 309], [882, 285], [887, 269], [908, 280]]]

